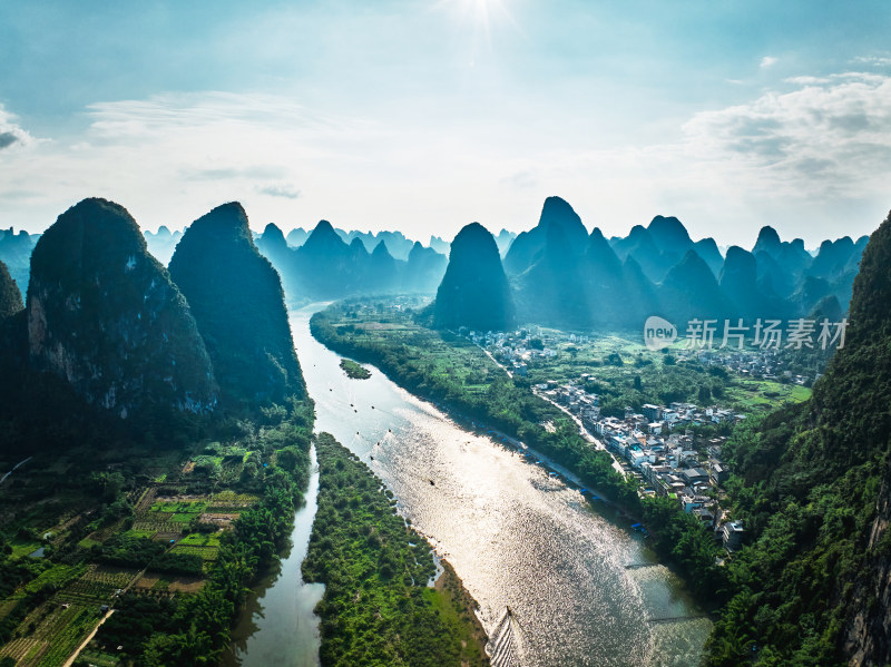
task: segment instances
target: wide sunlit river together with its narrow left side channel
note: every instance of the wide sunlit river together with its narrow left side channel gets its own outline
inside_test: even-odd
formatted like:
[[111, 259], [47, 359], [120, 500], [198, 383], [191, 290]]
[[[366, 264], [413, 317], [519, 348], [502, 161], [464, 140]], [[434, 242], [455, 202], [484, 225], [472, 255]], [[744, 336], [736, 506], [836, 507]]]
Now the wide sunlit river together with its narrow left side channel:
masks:
[[[369, 380], [346, 377], [340, 357], [310, 334], [316, 308], [291, 318], [316, 430], [332, 433], [393, 491], [402, 514], [479, 602], [487, 629], [510, 607], [522, 665], [698, 663], [711, 624], [627, 520], [591, 509], [533, 459], [469, 432], [376, 369]], [[313, 496], [298, 513], [304, 526], [282, 566], [293, 565], [296, 577], [273, 578], [252, 598], [247, 635], [236, 638], [242, 649], [227, 665], [317, 665], [311, 610], [319, 587], [303, 583], [291, 563], [305, 553], [314, 503]]]

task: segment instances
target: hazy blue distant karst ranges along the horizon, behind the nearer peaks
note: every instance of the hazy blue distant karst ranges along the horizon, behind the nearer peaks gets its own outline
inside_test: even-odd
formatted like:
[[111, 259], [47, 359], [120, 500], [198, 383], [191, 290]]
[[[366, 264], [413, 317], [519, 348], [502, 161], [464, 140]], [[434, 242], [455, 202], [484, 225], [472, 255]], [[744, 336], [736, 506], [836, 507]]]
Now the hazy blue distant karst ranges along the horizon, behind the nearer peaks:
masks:
[[[163, 226], [144, 236], [149, 252], [166, 264], [183, 234]], [[326, 220], [286, 236], [271, 224], [252, 236], [292, 302], [432, 294], [451, 251], [437, 236], [424, 246], [401, 232], [344, 232]], [[0, 230], [0, 261], [21, 292], [38, 238]], [[647, 226], [635, 225], [627, 236], [607, 239], [597, 227], [588, 233], [567, 202], [549, 197], [535, 227], [519, 235], [502, 229], [493, 241], [518, 321], [636, 327], [653, 314], [682, 326], [694, 317], [804, 316], [826, 297], [846, 311], [868, 238], [828, 239], [813, 254], [802, 239], [782, 241], [765, 226], [751, 249], [731, 246], [722, 255], [714, 238], [694, 241], [679, 219], [660, 215]]]

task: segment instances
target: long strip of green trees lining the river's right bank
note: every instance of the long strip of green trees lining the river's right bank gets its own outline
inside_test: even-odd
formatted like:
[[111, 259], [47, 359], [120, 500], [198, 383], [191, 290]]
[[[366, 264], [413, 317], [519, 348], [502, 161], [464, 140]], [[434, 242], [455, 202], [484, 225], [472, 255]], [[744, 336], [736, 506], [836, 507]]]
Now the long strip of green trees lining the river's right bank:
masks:
[[373, 363], [409, 391], [526, 442], [642, 518], [656, 549], [677, 563], [701, 599], [712, 600], [723, 588], [718, 549], [693, 516], [667, 499], [640, 498], [635, 482], [616, 472], [610, 455], [581, 438], [566, 413], [536, 396], [527, 379], [508, 377], [477, 345], [395, 312], [363, 323], [355, 304], [334, 304], [310, 324], [332, 350]]

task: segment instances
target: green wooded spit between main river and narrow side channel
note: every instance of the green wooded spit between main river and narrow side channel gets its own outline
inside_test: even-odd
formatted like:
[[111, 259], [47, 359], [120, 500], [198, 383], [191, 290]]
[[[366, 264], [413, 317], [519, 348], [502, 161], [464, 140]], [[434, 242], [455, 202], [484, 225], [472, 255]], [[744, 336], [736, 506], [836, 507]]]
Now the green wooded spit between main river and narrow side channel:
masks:
[[327, 433], [316, 452], [319, 510], [303, 576], [325, 585], [322, 664], [488, 665], [472, 600], [453, 572], [447, 588], [427, 586], [430, 546], [396, 514], [392, 494]]

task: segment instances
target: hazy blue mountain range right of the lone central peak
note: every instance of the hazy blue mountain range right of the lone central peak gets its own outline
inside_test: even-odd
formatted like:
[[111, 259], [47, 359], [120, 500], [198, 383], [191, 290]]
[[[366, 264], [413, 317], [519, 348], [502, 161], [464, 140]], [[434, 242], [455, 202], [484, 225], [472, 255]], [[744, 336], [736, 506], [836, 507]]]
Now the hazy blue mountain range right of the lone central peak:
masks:
[[518, 318], [571, 327], [639, 326], [648, 315], [683, 325], [698, 318], [804, 316], [822, 300], [851, 300], [868, 237], [825, 241], [816, 256], [764, 227], [752, 251], [694, 242], [675, 217], [656, 216], [608, 242], [588, 234], [559, 197], [505, 256]]

